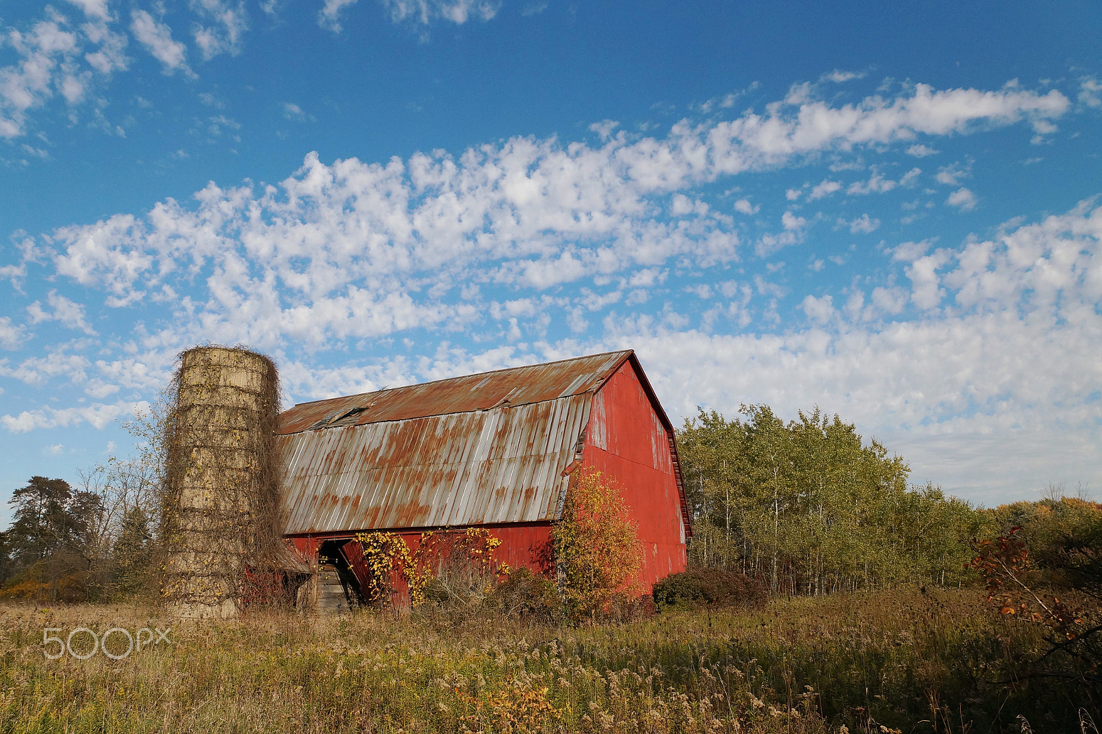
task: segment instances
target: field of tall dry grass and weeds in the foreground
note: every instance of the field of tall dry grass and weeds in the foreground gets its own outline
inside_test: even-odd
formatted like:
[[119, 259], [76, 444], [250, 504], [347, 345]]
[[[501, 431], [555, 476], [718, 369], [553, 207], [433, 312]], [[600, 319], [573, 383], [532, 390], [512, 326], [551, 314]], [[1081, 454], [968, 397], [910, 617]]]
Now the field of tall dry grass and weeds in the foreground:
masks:
[[[172, 627], [123, 659], [48, 660], [44, 628]], [[1079, 731], [1077, 689], [1014, 679], [1028, 625], [975, 592], [792, 598], [624, 625], [0, 607], [2, 732]], [[86, 654], [79, 633], [74, 650]], [[114, 633], [108, 651], [121, 654]], [[1007, 683], [1006, 681], [1012, 681]]]

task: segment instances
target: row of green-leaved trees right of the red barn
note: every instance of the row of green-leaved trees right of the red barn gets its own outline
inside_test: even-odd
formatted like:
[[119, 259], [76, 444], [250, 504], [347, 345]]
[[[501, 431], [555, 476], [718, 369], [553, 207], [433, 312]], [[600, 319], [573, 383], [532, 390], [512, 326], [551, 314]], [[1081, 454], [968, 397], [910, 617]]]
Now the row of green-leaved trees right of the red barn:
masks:
[[693, 515], [690, 561], [761, 579], [774, 594], [900, 583], [959, 585], [990, 512], [818, 408], [785, 422], [768, 406], [726, 419], [701, 410], [678, 432]]

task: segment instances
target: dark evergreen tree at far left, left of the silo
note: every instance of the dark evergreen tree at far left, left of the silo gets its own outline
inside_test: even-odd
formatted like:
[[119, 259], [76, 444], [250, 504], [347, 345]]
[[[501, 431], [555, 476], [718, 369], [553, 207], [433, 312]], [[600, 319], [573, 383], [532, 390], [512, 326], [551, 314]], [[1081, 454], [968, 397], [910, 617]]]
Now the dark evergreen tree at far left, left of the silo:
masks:
[[85, 596], [90, 529], [102, 510], [99, 497], [74, 493], [64, 479], [32, 476], [8, 501], [14, 507], [4, 533], [14, 566], [9, 593], [50, 601]]

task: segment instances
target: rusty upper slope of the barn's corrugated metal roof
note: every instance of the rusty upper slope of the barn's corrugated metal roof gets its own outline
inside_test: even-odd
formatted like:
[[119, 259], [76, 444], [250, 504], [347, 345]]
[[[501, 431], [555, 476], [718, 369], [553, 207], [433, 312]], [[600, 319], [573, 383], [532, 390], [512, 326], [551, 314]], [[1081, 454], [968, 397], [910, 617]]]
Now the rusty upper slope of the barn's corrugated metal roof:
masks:
[[280, 415], [279, 433], [322, 428], [323, 421], [327, 421], [325, 425], [363, 425], [488, 410], [503, 400], [507, 400], [509, 406], [523, 406], [582, 395], [599, 387], [631, 355], [630, 349], [608, 352], [344, 398], [301, 402]]

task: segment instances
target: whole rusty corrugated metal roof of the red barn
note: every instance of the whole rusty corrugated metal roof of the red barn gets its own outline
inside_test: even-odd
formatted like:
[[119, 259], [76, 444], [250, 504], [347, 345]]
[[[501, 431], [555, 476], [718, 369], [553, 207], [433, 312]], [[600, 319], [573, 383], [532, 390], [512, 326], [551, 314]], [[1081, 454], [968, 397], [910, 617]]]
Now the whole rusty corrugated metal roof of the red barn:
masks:
[[287, 535], [557, 519], [593, 393], [631, 350], [300, 403], [280, 415]]

